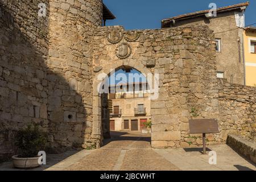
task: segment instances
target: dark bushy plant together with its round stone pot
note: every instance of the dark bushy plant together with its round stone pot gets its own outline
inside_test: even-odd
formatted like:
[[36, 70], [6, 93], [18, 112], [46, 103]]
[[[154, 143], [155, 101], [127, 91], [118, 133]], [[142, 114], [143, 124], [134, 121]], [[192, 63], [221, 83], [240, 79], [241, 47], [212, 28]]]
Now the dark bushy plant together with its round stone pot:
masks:
[[12, 157], [16, 168], [35, 168], [39, 166], [39, 151], [46, 147], [46, 134], [39, 130], [38, 126], [28, 125], [26, 129], [18, 130], [15, 136], [15, 145], [19, 155]]

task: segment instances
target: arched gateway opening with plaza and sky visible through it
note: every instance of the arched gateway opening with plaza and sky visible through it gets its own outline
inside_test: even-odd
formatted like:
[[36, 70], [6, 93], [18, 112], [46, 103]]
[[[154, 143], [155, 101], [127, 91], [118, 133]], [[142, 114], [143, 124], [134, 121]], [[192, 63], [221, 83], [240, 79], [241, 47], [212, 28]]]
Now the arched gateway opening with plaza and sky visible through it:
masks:
[[113, 140], [151, 141], [151, 92], [137, 69], [114, 69], [102, 83], [101, 123], [104, 144]]

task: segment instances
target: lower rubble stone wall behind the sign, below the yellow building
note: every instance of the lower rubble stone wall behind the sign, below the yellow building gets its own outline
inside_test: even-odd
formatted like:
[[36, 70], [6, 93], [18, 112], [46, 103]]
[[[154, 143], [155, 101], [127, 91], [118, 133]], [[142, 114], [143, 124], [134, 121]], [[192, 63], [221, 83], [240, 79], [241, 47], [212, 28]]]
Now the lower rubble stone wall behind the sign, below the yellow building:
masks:
[[256, 141], [256, 88], [218, 80], [221, 138], [241, 135]]

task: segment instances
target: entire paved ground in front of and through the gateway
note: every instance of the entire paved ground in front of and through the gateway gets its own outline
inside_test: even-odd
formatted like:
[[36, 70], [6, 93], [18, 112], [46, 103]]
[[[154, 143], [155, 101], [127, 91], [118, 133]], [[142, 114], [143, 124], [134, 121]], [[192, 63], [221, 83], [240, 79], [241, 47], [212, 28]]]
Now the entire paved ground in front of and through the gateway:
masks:
[[[150, 136], [140, 133], [113, 133], [112, 141], [97, 150], [67, 151], [63, 154], [48, 155], [47, 165], [30, 170], [145, 170], [145, 171], [215, 171], [215, 170], [256, 170], [230, 147], [208, 146], [217, 153], [217, 164], [208, 163], [209, 156], [201, 154], [201, 148], [151, 149]], [[0, 164], [1, 170], [13, 168], [11, 162]]]

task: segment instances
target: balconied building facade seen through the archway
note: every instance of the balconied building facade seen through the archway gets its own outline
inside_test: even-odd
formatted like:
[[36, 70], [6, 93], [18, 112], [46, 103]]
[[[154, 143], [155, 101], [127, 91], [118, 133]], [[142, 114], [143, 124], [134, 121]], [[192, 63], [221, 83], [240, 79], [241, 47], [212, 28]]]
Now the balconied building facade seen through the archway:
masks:
[[109, 94], [110, 130], [141, 131], [151, 119], [150, 89], [146, 82], [125, 84]]

